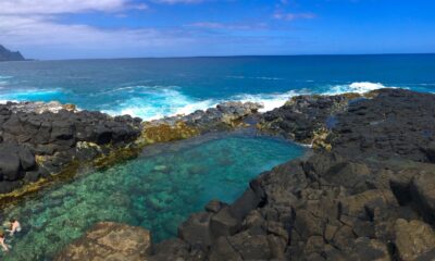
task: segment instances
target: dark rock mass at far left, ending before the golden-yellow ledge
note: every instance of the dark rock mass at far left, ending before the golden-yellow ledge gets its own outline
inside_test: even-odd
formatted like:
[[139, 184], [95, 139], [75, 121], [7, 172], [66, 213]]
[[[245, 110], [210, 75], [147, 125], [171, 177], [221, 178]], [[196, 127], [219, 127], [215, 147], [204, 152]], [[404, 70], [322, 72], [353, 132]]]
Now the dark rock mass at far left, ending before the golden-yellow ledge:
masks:
[[0, 104], [0, 192], [123, 147], [139, 128], [139, 119], [78, 112], [58, 102]]

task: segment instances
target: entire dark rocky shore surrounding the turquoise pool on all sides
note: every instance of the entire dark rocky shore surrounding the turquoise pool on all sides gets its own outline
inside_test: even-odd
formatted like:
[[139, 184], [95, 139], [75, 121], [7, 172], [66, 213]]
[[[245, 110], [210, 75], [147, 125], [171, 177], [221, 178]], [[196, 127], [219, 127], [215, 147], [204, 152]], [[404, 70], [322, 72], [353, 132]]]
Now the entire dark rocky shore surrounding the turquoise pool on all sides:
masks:
[[104, 167], [149, 144], [254, 125], [312, 156], [260, 174], [232, 204], [211, 201], [177, 238], [152, 245], [141, 228], [101, 223], [57, 260], [435, 259], [434, 95], [381, 89], [259, 108], [229, 102], [141, 122], [59, 103], [0, 105], [0, 192], [21, 197], [76, 162]]

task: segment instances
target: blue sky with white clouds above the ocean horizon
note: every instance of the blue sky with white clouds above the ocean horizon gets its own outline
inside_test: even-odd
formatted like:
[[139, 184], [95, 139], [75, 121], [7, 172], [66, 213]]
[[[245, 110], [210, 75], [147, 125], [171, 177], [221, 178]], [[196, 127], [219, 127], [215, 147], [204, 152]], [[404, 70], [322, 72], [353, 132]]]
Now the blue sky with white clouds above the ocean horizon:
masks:
[[33, 59], [435, 52], [432, 0], [0, 0]]

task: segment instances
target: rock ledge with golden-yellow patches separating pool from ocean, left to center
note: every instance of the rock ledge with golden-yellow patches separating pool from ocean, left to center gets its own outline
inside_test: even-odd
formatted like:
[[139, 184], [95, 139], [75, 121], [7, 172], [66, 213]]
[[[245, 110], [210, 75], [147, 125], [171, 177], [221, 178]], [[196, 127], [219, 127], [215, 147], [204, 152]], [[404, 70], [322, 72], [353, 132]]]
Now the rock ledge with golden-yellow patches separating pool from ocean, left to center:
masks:
[[78, 111], [59, 102], [0, 104], [0, 206], [33, 194], [82, 166], [108, 167], [150, 144], [244, 126], [260, 104], [226, 102], [190, 115], [142, 122]]

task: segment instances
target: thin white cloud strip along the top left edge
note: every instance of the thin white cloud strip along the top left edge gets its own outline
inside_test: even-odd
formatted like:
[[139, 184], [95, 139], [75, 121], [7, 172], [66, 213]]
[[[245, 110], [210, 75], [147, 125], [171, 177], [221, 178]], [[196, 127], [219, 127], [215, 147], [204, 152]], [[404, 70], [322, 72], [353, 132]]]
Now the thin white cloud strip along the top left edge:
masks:
[[116, 12], [129, 8], [146, 9], [146, 4], [130, 4], [128, 0], [1, 0], [0, 14], [62, 14], [89, 11]]

